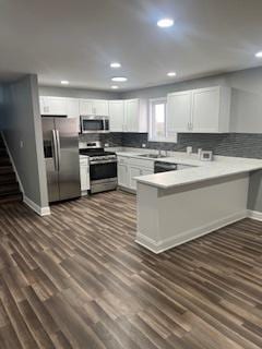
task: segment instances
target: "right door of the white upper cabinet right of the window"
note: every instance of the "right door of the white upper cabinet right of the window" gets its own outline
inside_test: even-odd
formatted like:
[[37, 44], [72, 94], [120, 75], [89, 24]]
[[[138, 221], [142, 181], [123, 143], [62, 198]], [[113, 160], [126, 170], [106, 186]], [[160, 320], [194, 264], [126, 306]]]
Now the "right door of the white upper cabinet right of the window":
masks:
[[192, 92], [193, 132], [218, 132], [219, 87]]

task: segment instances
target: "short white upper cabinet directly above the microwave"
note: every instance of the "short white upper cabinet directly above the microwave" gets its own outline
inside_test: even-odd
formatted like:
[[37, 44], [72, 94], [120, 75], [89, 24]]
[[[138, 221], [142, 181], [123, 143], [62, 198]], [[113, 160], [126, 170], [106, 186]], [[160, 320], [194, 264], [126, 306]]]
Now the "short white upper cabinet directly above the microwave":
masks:
[[108, 100], [104, 99], [80, 99], [81, 116], [108, 116]]

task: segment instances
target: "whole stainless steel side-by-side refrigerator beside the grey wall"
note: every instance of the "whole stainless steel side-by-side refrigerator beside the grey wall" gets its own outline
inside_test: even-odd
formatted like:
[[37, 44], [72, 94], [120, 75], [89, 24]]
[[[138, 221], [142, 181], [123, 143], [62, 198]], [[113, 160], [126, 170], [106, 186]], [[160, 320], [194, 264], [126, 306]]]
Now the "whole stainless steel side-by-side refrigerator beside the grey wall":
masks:
[[81, 196], [78, 121], [41, 118], [49, 202]]

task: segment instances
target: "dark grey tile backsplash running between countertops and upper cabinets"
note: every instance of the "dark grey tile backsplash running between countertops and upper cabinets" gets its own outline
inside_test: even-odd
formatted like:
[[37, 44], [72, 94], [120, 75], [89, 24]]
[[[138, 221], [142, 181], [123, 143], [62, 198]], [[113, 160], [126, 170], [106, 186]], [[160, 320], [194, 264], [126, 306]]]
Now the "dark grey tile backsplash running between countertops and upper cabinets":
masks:
[[187, 146], [192, 146], [193, 152], [198, 148], [213, 151], [215, 155], [237, 156], [249, 158], [262, 158], [262, 134], [261, 133], [180, 133], [177, 143], [148, 142], [147, 133], [109, 133], [82, 135], [83, 140], [100, 140], [109, 146], [142, 147], [186, 152]]

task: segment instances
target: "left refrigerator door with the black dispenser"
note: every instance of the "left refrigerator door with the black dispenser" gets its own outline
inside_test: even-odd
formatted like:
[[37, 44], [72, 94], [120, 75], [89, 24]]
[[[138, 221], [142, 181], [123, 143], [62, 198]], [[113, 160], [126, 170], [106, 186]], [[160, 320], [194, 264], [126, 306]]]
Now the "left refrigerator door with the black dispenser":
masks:
[[58, 163], [53, 118], [41, 118], [49, 203], [59, 201]]

